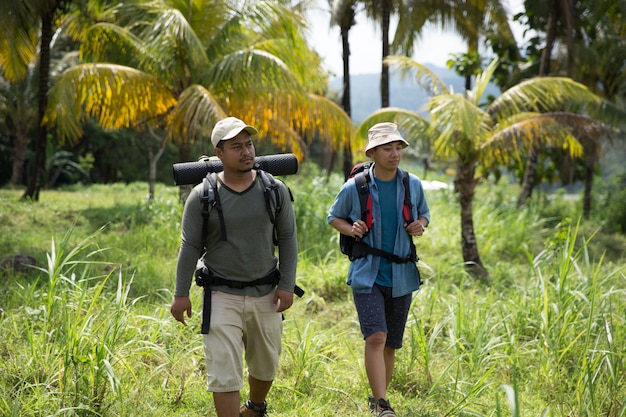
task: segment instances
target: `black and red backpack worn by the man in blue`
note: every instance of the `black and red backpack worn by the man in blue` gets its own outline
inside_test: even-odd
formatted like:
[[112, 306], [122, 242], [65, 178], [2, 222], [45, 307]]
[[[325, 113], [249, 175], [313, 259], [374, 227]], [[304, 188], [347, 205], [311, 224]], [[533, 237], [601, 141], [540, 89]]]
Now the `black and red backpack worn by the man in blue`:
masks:
[[[372, 227], [372, 197], [369, 192], [369, 169], [372, 166], [372, 162], [362, 162], [356, 164], [350, 171], [349, 178], [354, 178], [354, 183], [359, 193], [359, 203], [361, 205], [361, 220], [365, 222], [368, 229]], [[411, 202], [411, 188], [409, 186], [409, 173], [404, 170], [400, 170], [402, 174], [402, 183], [404, 184], [404, 203], [402, 204], [402, 216], [407, 223], [413, 222], [412, 209], [413, 203]], [[354, 220], [346, 219], [348, 222], [353, 223]], [[400, 257], [394, 253], [386, 252], [382, 249], [373, 248], [363, 242], [359, 238], [352, 236], [339, 234], [339, 248], [341, 253], [347, 255], [348, 258], [353, 261], [358, 258], [363, 258], [368, 254], [380, 256], [388, 259], [391, 262], [407, 263], [417, 262], [417, 250], [413, 239], [411, 239], [411, 253], [406, 257]]]

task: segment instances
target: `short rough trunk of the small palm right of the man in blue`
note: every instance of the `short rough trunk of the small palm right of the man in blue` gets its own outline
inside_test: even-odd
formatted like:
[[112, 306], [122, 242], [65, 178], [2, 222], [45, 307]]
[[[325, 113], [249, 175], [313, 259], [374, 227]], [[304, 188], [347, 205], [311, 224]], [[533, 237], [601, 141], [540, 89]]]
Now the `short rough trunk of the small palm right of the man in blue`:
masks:
[[475, 278], [487, 278], [489, 273], [480, 260], [476, 234], [474, 232], [472, 201], [474, 200], [474, 189], [477, 183], [474, 178], [474, 171], [473, 162], [459, 162], [458, 172], [454, 180], [454, 186], [461, 205], [461, 248], [463, 261], [470, 275]]

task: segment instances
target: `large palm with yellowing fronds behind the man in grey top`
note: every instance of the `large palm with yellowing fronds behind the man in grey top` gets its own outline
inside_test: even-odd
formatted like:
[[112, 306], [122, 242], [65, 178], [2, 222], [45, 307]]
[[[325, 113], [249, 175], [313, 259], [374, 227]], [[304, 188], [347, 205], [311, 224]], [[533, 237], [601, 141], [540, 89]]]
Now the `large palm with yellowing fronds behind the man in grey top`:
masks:
[[[352, 122], [337, 105], [308, 92], [321, 88], [319, 58], [316, 63], [306, 48], [293, 11], [278, 3], [243, 11], [214, 5], [196, 34], [165, 3], [135, 7], [120, 13], [118, 22], [128, 19], [127, 26], [93, 26], [81, 46], [93, 63], [67, 70], [53, 87], [47, 121], [61, 139], [79, 137], [82, 122], [94, 117], [107, 129], [133, 127], [162, 144], [187, 143], [207, 137], [230, 114], [304, 159], [306, 141], [316, 134], [335, 148], [352, 135]], [[132, 18], [137, 12], [144, 16], [140, 24]], [[156, 160], [158, 153], [153, 168]]]

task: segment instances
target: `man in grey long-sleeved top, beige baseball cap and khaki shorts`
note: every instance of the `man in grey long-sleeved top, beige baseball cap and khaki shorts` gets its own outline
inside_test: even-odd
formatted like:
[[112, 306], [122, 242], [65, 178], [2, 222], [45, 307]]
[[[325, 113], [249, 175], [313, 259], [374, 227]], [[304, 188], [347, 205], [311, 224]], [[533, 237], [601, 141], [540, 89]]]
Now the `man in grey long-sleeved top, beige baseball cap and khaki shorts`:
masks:
[[[209, 212], [206, 242], [202, 236], [203, 184], [190, 193], [182, 218], [171, 312], [183, 324], [185, 313], [191, 317], [189, 291], [196, 271], [205, 290], [204, 354], [208, 390], [213, 392], [218, 417], [266, 415], [266, 397], [281, 351], [281, 313], [293, 303], [298, 257], [294, 210], [289, 190], [275, 179], [281, 209], [272, 223], [260, 178], [269, 173], [253, 169], [251, 135], [256, 134], [254, 127], [235, 117], [215, 125], [211, 142], [224, 170], [209, 174], [215, 176], [220, 205]], [[199, 258], [202, 262], [196, 268]], [[250, 396], [240, 406], [244, 353]]]

